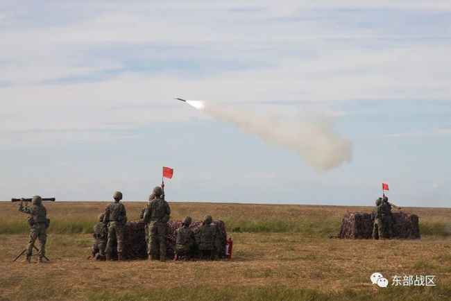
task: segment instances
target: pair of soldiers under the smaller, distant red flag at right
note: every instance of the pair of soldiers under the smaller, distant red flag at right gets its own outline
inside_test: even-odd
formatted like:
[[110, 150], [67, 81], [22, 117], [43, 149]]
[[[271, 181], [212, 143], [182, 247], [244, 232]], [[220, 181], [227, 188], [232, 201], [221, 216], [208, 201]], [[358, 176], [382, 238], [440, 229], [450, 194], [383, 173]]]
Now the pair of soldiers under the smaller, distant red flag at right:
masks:
[[377, 198], [376, 206], [371, 213], [373, 221], [373, 239], [391, 239], [393, 237], [393, 214], [389, 198], [385, 195]]

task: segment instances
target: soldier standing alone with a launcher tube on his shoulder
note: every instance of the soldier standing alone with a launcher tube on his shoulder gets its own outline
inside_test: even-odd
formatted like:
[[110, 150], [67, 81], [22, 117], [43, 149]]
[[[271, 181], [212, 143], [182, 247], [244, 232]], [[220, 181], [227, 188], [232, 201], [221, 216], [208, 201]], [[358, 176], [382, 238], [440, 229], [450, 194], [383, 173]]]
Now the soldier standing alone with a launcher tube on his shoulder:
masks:
[[42, 198], [40, 196], [33, 196], [31, 203], [32, 207], [27, 208], [22, 205], [24, 198], [20, 199], [19, 211], [28, 213], [28, 223], [31, 225], [30, 241], [28, 243], [28, 248], [26, 249], [26, 261], [31, 262], [31, 253], [33, 251], [33, 246], [35, 246], [36, 239], [40, 242], [39, 250], [39, 262], [42, 263], [42, 257], [45, 255], [45, 243], [47, 239], [47, 227], [50, 225], [50, 220], [47, 218], [47, 210], [44, 205], [42, 205]]

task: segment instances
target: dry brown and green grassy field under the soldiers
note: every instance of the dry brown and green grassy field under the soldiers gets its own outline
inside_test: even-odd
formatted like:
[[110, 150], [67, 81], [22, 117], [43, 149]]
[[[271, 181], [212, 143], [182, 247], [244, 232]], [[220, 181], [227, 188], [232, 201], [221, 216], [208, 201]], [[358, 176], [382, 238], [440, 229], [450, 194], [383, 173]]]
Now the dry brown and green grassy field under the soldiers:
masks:
[[[420, 216], [419, 241], [329, 239], [343, 213], [371, 207], [170, 203], [172, 218], [226, 222], [232, 260], [93, 262], [90, 230], [107, 203], [46, 203], [49, 264], [12, 263], [28, 226], [0, 203], [0, 300], [450, 300], [451, 209], [403, 208]], [[144, 203], [125, 203], [135, 220]], [[374, 272], [435, 275], [434, 287], [369, 281]]]

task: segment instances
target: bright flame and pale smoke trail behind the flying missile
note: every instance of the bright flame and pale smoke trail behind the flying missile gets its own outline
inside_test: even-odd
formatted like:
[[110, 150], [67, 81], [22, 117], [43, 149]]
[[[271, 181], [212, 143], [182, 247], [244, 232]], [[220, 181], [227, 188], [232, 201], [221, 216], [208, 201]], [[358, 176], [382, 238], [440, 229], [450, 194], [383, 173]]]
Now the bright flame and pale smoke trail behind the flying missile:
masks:
[[232, 123], [241, 130], [258, 135], [270, 144], [285, 146], [300, 153], [316, 169], [335, 169], [352, 159], [352, 144], [334, 131], [331, 118], [298, 118], [271, 114], [250, 114], [203, 101], [187, 101], [214, 119]]

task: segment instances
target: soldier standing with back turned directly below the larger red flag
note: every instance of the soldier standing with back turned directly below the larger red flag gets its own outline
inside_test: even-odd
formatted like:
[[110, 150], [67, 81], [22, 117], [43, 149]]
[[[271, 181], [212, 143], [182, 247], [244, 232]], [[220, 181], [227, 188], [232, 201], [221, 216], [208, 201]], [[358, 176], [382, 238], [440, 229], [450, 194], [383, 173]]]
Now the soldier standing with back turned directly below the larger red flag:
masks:
[[151, 200], [146, 212], [144, 212], [144, 223], [148, 223], [148, 259], [155, 259], [155, 254], [160, 246], [160, 261], [166, 261], [166, 225], [171, 216], [171, 208], [166, 200], [163, 200], [163, 189], [155, 187], [153, 189], [155, 198]]

